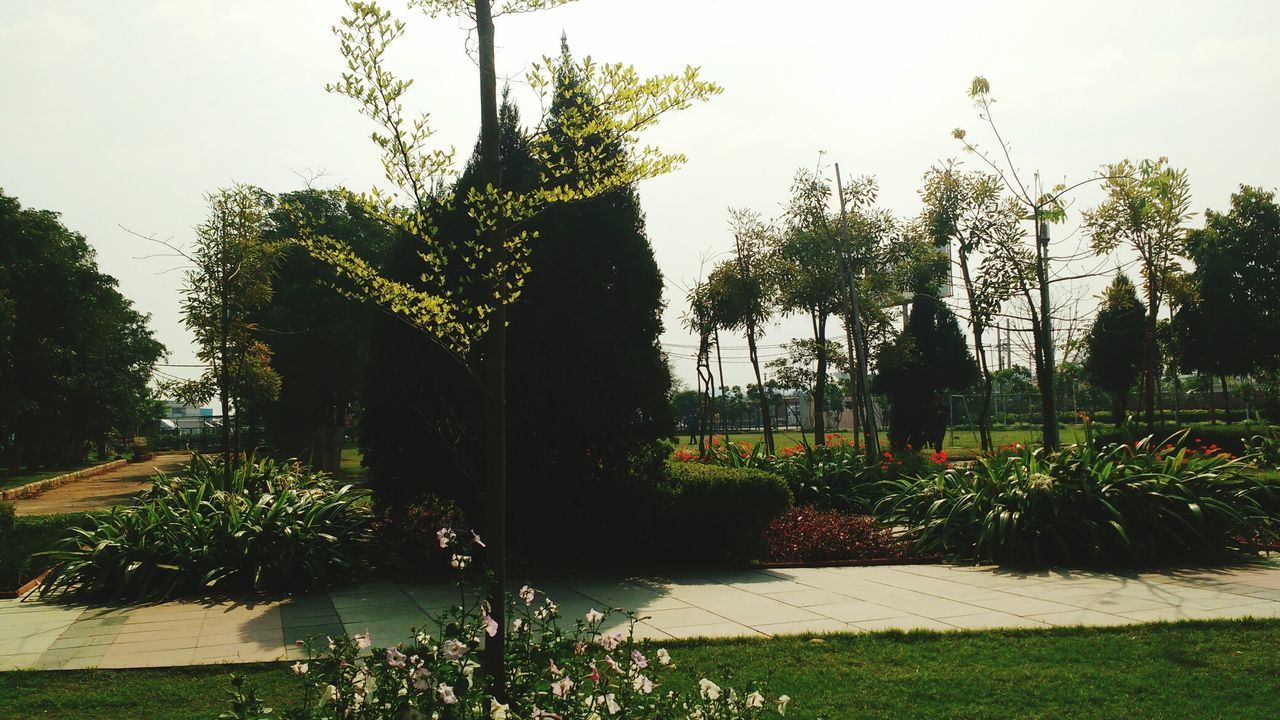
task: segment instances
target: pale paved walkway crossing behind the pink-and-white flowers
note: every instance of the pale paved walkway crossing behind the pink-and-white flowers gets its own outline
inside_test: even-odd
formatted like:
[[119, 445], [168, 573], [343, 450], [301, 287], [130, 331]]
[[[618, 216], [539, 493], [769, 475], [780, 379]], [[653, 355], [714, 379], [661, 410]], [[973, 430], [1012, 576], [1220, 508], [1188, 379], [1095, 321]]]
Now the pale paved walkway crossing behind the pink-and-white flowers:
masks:
[[[1280, 561], [1110, 575], [895, 565], [593, 577], [540, 585], [573, 616], [626, 607], [652, 639], [883, 629], [1048, 628], [1280, 618]], [[283, 602], [70, 607], [0, 601], [0, 670], [148, 667], [289, 660], [308, 635], [369, 632], [374, 644], [431, 626], [457, 601], [444, 584], [367, 582]]]

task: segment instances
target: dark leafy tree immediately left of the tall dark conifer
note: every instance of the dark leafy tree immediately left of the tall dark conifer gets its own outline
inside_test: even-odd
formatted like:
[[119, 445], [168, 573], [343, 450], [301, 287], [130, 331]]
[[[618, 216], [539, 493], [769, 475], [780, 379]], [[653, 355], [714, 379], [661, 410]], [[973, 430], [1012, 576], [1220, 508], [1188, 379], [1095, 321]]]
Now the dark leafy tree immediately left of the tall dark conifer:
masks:
[[285, 208], [301, 209], [319, 232], [340, 238], [378, 264], [394, 236], [332, 191], [282, 195], [266, 219], [264, 240], [282, 246], [273, 301], [253, 313], [257, 336], [270, 347], [280, 377], [279, 397], [262, 409], [266, 439], [278, 451], [335, 473], [360, 400], [376, 313], [325, 287], [332, 275], [328, 265], [300, 246], [285, 245], [298, 234], [297, 214]]

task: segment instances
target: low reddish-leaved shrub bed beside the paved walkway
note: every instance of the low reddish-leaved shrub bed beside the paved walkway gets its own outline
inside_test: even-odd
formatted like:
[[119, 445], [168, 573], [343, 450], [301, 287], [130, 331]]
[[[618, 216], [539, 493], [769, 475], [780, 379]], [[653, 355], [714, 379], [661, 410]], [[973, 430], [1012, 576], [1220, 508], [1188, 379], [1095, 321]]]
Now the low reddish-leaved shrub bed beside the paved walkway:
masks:
[[792, 507], [765, 532], [769, 560], [820, 562], [827, 560], [886, 560], [910, 556], [908, 543], [869, 515]]

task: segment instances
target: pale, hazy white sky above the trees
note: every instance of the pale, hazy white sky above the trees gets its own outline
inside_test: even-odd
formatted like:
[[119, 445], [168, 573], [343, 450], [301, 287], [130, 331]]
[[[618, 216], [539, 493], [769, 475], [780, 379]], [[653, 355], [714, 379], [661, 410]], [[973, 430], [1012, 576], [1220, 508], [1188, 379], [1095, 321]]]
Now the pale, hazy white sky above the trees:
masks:
[[[408, 108], [430, 113], [435, 140], [465, 158], [479, 127], [465, 20], [384, 6], [408, 23], [390, 55], [415, 79]], [[140, 234], [191, 243], [205, 195], [233, 182], [285, 192], [319, 174], [323, 187], [385, 187], [372, 126], [324, 91], [343, 69], [330, 28], [344, 9], [0, 0], [0, 188], [88, 238], [101, 269], [151, 315], [166, 373], [198, 374], [180, 368], [196, 361], [182, 273]], [[526, 119], [539, 106], [522, 78], [562, 32], [576, 55], [641, 73], [696, 65], [724, 87], [643, 138], [689, 158], [641, 183], [640, 197], [667, 284], [663, 345], [690, 386], [696, 340], [681, 329], [684, 295], [730, 249], [728, 208], [777, 217], [796, 169], [832, 176], [840, 163], [845, 176], [876, 176], [882, 208], [916, 215], [931, 165], [978, 168], [952, 128], [992, 142], [966, 95], [977, 74], [991, 82], [1018, 169], [1050, 184], [1169, 156], [1189, 173], [1193, 225], [1240, 183], [1277, 184], [1275, 1], [581, 0], [498, 20], [498, 73]], [[1079, 238], [1079, 211], [1100, 200], [1096, 187], [1075, 193], [1055, 233]], [[1102, 283], [1065, 290], [1085, 313]], [[782, 319], [762, 354], [805, 332]], [[726, 382], [750, 382], [745, 341], [722, 342]]]

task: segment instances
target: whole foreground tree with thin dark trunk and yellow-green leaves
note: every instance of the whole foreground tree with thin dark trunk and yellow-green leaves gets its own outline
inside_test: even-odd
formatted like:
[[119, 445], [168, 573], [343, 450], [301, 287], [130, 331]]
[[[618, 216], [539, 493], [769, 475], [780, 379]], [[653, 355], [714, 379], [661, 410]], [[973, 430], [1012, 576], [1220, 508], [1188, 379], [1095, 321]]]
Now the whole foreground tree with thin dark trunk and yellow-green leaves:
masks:
[[[497, 14], [539, 10], [566, 0], [504, 0]], [[408, 201], [399, 208], [390, 197], [372, 192], [361, 196], [366, 209], [388, 224], [422, 241], [424, 277], [419, 287], [396, 282], [352, 252], [335, 238], [310, 234], [312, 254], [353, 281], [360, 292], [383, 307], [402, 315], [431, 342], [463, 365], [481, 393], [485, 462], [486, 556], [492, 573], [490, 612], [498, 633], [485, 646], [489, 676], [498, 698], [504, 653], [506, 507], [507, 507], [507, 306], [521, 293], [529, 272], [527, 223], [552, 205], [581, 201], [628, 187], [635, 182], [675, 169], [684, 158], [645, 146], [637, 149], [636, 133], [657, 123], [668, 110], [682, 109], [719, 91], [699, 79], [698, 70], [641, 78], [634, 68], [577, 67], [585, 92], [579, 105], [564, 108], [557, 118], [563, 161], [545, 154], [539, 158], [548, 170], [536, 187], [520, 191], [502, 177], [499, 147], [498, 85], [494, 59], [494, 3], [492, 0], [416, 0], [430, 17], [466, 17], [475, 23], [480, 76], [480, 152], [477, 186], [465, 197], [449, 197], [445, 205], [467, 209], [475, 233], [461, 245], [444, 246], [436, 237], [429, 213], [436, 205], [430, 179], [449, 173], [453, 151], [429, 147], [426, 118], [408, 119], [403, 100], [411, 82], [397, 79], [387, 65], [387, 49], [403, 33], [404, 24], [376, 4], [351, 0], [351, 14], [334, 31], [347, 59], [347, 72], [332, 90], [357, 101], [361, 111], [380, 126], [374, 142], [383, 152], [388, 182]], [[532, 64], [530, 87], [543, 95], [558, 90], [556, 61]], [[593, 99], [596, 105], [581, 102]], [[600, 138], [617, 142], [625, 151], [605, 156]], [[461, 260], [461, 269], [445, 261]], [[474, 342], [481, 346], [472, 352]]]

